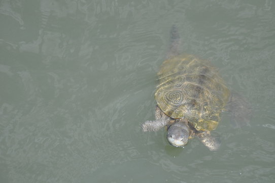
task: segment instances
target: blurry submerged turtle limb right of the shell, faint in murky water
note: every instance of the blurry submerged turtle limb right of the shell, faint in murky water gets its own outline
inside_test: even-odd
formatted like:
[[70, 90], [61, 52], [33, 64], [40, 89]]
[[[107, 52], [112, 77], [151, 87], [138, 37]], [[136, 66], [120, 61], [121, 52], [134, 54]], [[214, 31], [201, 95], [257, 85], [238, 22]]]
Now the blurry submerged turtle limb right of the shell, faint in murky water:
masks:
[[250, 126], [252, 110], [249, 102], [237, 93], [232, 93], [227, 104], [227, 111], [231, 113], [231, 122], [234, 128]]

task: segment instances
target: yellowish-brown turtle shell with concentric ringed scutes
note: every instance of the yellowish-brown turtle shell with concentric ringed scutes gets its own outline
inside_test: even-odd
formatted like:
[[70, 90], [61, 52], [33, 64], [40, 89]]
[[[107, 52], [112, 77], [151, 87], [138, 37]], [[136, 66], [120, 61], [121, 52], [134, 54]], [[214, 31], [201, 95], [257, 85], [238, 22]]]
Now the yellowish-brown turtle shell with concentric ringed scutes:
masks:
[[185, 118], [197, 130], [215, 130], [228, 102], [229, 89], [207, 60], [180, 55], [163, 62], [155, 99], [172, 118]]

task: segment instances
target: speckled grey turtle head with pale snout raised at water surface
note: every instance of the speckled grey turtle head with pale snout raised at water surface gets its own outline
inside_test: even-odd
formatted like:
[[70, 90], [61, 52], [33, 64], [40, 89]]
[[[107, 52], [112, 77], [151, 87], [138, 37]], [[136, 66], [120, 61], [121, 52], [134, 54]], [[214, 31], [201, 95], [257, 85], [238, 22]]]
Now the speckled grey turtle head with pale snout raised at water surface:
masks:
[[176, 121], [167, 129], [167, 140], [175, 147], [182, 147], [187, 144], [190, 134], [190, 128], [187, 123]]

